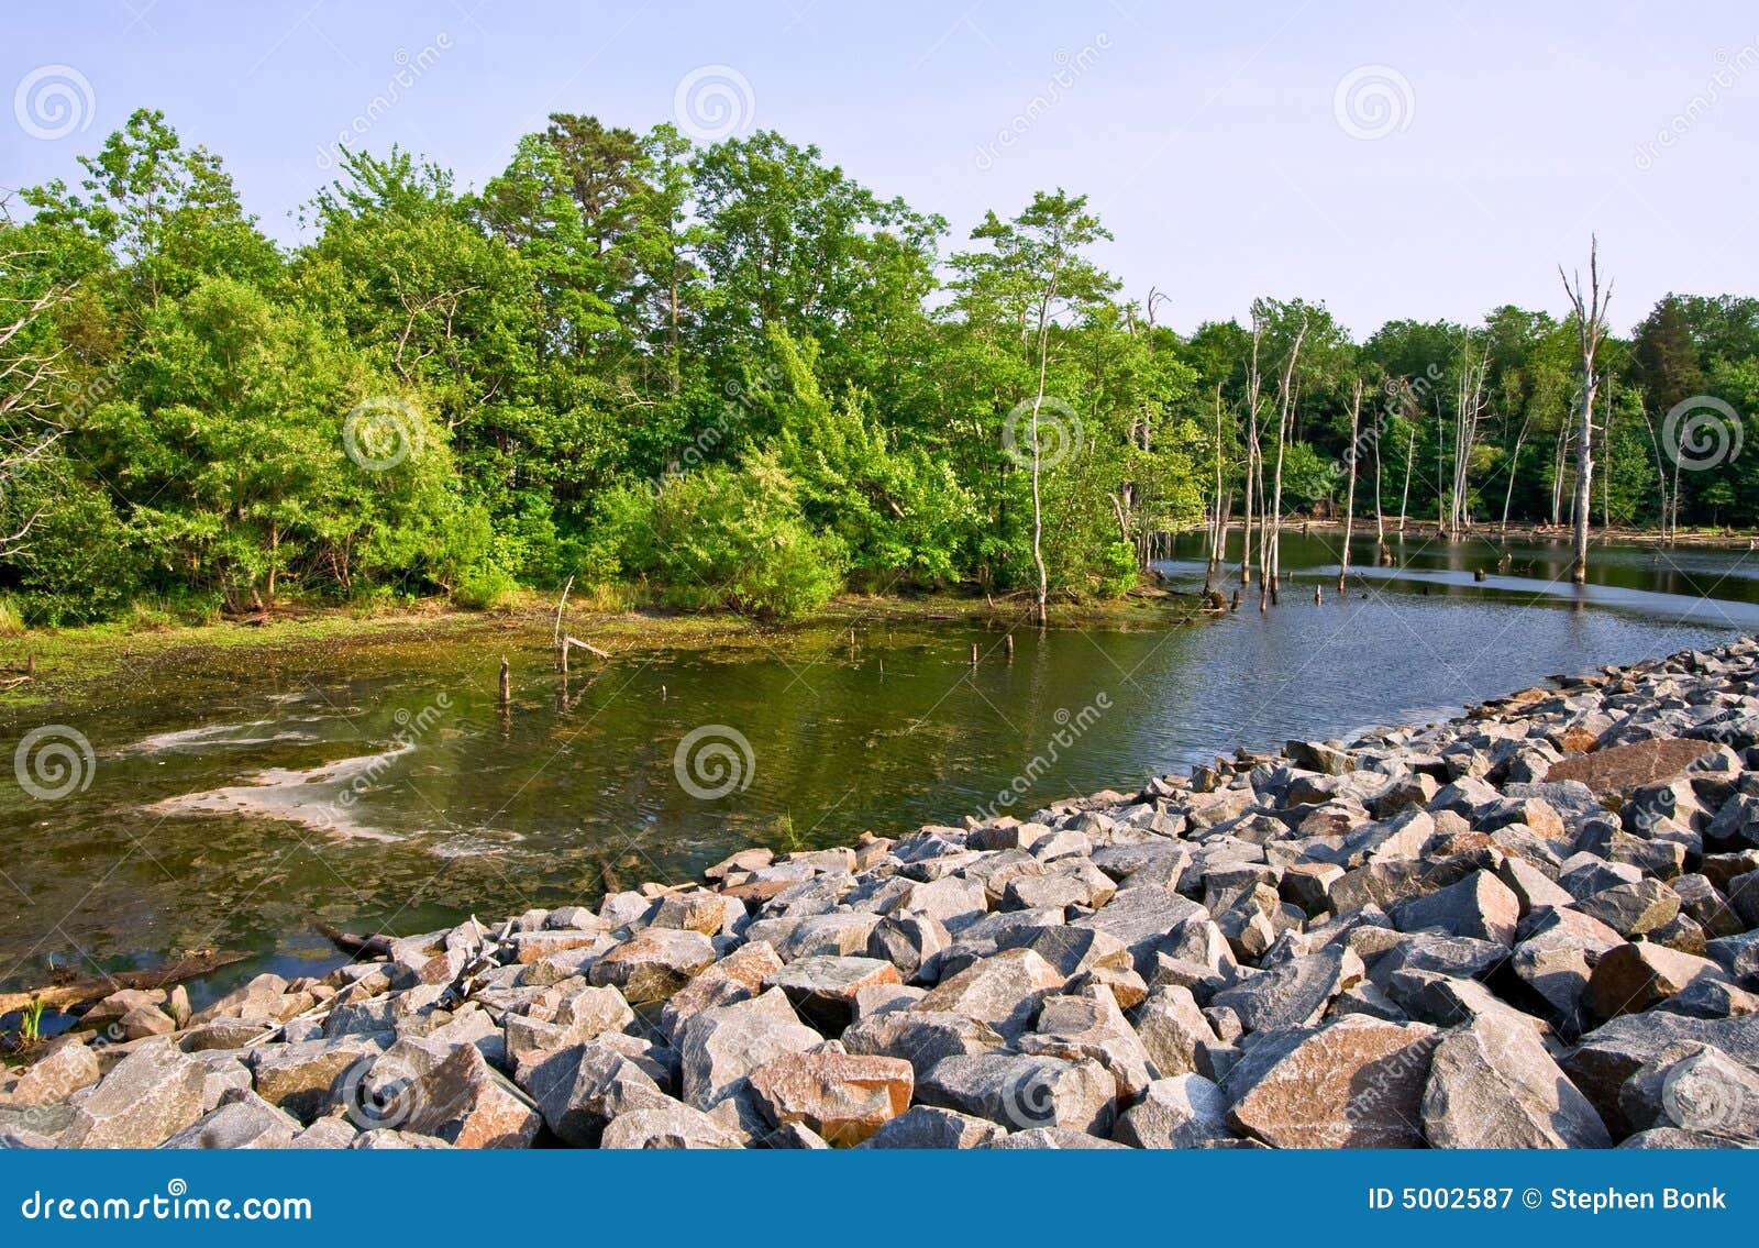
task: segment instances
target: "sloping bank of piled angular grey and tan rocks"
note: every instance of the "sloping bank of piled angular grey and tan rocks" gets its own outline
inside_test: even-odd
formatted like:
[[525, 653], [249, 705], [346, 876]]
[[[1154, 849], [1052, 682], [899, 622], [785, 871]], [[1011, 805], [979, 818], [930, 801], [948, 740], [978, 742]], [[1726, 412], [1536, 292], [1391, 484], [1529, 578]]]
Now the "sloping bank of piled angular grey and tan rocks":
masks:
[[1759, 641], [116, 993], [11, 1148], [1759, 1144]]

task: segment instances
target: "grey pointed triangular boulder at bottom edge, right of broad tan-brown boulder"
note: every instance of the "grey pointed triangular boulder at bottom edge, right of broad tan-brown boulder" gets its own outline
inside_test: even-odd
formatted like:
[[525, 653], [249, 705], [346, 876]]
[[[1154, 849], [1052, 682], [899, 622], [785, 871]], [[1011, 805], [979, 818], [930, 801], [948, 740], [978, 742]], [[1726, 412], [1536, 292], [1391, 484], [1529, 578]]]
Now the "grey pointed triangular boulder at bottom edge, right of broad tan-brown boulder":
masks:
[[1430, 1056], [1423, 1134], [1432, 1148], [1611, 1148], [1606, 1125], [1520, 1016], [1486, 1012]]

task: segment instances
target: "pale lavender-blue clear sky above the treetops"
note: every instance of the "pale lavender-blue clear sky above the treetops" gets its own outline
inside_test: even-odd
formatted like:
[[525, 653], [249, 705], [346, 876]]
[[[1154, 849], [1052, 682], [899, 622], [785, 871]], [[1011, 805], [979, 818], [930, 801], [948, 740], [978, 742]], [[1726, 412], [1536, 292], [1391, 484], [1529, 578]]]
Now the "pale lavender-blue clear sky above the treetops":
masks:
[[1583, 262], [1590, 231], [1620, 329], [1668, 290], [1759, 292], [1750, 0], [245, 9], [9, 0], [0, 187], [77, 176], [76, 155], [153, 106], [297, 241], [288, 211], [357, 118], [362, 146], [480, 185], [551, 111], [646, 128], [679, 120], [684, 84], [698, 130], [730, 116], [814, 143], [946, 217], [955, 243], [1034, 188], [1085, 192], [1117, 236], [1103, 262], [1135, 297], [1168, 292], [1159, 319], [1180, 329], [1258, 294], [1325, 299], [1358, 334], [1560, 312], [1557, 262]]

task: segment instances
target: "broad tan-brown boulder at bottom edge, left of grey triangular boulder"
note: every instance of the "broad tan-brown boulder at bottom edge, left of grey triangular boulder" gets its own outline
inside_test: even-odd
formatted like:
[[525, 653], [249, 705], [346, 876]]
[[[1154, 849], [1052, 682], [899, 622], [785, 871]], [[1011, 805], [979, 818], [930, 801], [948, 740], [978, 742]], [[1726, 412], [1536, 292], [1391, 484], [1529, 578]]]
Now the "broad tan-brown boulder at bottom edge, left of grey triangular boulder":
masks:
[[1272, 1148], [1416, 1148], [1435, 1028], [1361, 1014], [1265, 1033], [1223, 1090], [1235, 1130]]

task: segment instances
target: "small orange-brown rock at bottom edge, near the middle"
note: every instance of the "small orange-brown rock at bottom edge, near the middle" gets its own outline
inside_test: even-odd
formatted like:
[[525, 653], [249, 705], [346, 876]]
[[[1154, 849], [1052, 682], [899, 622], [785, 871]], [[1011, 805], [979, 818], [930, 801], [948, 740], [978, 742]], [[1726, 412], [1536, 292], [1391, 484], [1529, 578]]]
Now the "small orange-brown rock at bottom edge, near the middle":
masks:
[[860, 1144], [902, 1114], [913, 1088], [908, 1061], [853, 1053], [790, 1053], [751, 1074], [772, 1125], [804, 1123], [834, 1148]]

